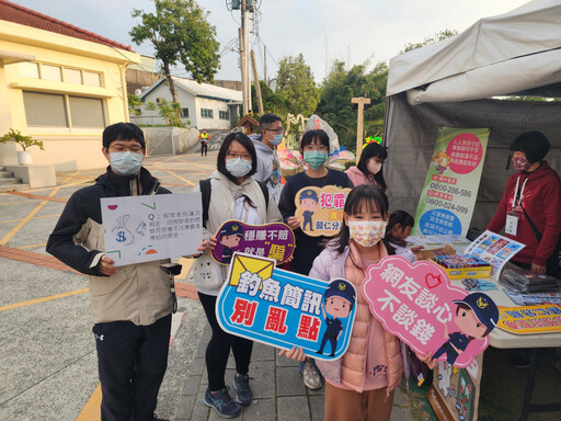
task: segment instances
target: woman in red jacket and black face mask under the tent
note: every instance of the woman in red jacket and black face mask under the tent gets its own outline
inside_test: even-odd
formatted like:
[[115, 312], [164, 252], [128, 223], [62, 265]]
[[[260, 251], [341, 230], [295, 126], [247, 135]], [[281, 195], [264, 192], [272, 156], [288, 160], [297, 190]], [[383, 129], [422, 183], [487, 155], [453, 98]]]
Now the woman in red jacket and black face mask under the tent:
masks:
[[527, 132], [513, 140], [512, 163], [517, 172], [508, 179], [486, 229], [499, 232], [505, 227], [506, 237], [526, 244], [513, 258], [517, 265], [557, 275], [559, 266], [556, 268], [552, 254], [561, 231], [561, 182], [543, 161], [550, 148], [540, 132]]

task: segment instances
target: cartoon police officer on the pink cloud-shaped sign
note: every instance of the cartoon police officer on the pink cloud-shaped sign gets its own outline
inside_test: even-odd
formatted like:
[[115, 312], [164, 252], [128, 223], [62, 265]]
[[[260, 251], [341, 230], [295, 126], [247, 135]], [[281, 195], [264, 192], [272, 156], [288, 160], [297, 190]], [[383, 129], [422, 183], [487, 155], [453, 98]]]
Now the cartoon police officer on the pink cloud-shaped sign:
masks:
[[496, 305], [483, 293], [472, 293], [453, 303], [458, 305], [454, 322], [459, 331], [448, 334], [448, 327], [445, 325], [444, 337], [448, 340], [433, 355], [437, 360], [446, 353], [446, 362], [450, 365], [466, 351], [471, 340], [486, 337], [499, 321]]

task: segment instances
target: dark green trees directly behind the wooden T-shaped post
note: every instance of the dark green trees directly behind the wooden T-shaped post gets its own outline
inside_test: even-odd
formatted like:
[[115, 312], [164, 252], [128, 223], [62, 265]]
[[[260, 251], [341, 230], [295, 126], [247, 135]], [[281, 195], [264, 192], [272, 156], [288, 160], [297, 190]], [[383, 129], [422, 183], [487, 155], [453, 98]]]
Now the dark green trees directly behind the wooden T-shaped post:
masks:
[[323, 81], [317, 114], [325, 120], [339, 136], [341, 145], [350, 149], [356, 146], [356, 117], [351, 99], [365, 96], [370, 106], [364, 113], [364, 137], [381, 133], [386, 112], [386, 83], [388, 66], [380, 61], [369, 70], [368, 61], [345, 70], [345, 64], [336, 60]]

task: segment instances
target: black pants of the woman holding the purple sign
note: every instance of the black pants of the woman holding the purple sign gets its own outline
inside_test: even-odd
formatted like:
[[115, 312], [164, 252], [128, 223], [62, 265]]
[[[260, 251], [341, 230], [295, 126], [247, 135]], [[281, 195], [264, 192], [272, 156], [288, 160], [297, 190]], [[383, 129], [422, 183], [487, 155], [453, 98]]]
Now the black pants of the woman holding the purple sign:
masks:
[[210, 338], [210, 342], [208, 342], [206, 346], [205, 359], [206, 371], [208, 373], [208, 388], [211, 391], [216, 391], [226, 387], [224, 375], [226, 373], [230, 349], [232, 350], [236, 361], [236, 371], [242, 375], [248, 374], [253, 341], [234, 337], [220, 328], [215, 312], [217, 297], [198, 293], [198, 298], [201, 299], [206, 318], [213, 329], [213, 338]]

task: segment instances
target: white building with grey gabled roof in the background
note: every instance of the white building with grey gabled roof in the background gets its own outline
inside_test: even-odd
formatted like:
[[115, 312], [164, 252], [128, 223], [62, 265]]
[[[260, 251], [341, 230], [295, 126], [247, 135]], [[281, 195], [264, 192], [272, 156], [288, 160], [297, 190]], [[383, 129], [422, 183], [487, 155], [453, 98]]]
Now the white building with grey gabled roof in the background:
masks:
[[[241, 91], [197, 83], [195, 80], [184, 78], [174, 77], [173, 81], [185, 126], [198, 129], [229, 129], [236, 126], [238, 107], [242, 100]], [[140, 99], [145, 104], [172, 102], [167, 79], [162, 78], [153, 83], [142, 92]], [[146, 125], [165, 124], [158, 110], [148, 110], [146, 105], [137, 110], [136, 114], [131, 114], [130, 121]]]

